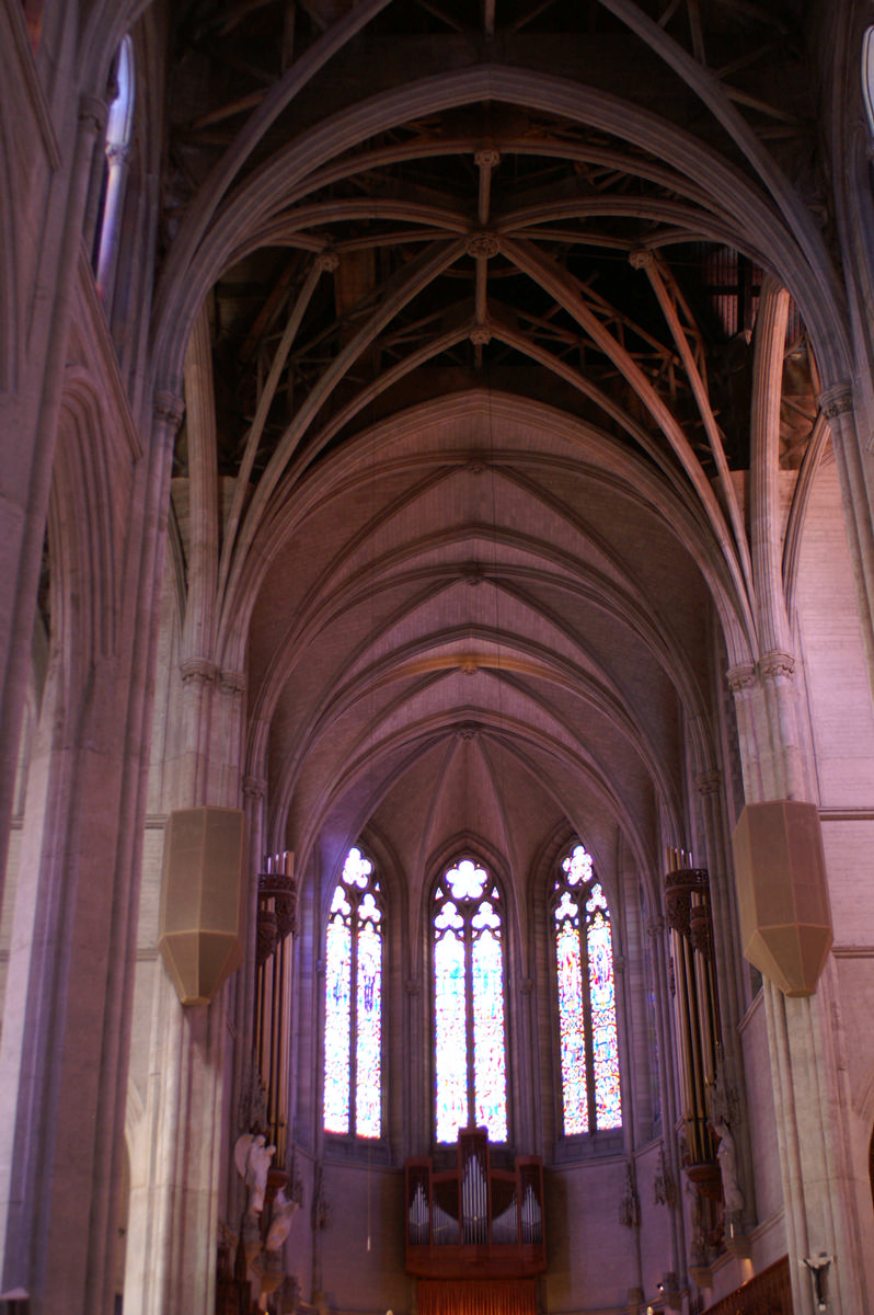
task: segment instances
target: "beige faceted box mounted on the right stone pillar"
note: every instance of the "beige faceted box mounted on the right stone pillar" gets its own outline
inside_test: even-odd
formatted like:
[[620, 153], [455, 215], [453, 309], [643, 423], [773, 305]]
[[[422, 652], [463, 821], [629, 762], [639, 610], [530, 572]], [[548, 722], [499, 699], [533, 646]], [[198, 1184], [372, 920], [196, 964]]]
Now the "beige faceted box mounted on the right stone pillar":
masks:
[[744, 956], [786, 995], [812, 995], [832, 945], [815, 803], [748, 803], [733, 836]]

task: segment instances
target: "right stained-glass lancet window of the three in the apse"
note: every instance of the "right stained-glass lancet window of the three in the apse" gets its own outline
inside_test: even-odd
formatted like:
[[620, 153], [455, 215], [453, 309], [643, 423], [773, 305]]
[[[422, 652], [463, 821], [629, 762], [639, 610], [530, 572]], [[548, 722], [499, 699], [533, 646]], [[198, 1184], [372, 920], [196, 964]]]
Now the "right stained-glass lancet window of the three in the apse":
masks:
[[565, 1136], [622, 1126], [612, 936], [591, 857], [576, 844], [553, 885]]

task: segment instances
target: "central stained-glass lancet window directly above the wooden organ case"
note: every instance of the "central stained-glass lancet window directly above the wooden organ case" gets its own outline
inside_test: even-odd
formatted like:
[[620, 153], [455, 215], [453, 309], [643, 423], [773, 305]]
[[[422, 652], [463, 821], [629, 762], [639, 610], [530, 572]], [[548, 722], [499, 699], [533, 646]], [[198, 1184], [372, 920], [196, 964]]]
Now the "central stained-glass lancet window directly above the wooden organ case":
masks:
[[431, 926], [436, 1140], [485, 1127], [506, 1141], [503, 910], [485, 868], [471, 859], [447, 868]]

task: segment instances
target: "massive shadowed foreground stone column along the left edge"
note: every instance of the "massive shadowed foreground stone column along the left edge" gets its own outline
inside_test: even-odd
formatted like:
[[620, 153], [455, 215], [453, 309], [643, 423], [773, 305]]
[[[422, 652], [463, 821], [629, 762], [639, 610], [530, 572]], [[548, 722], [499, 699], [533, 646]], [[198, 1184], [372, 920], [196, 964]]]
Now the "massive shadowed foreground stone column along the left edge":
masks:
[[[179, 410], [175, 412], [175, 419]], [[155, 571], [155, 494], [172, 422], [158, 421], [154, 463], [134, 472], [129, 514], [93, 551], [80, 517], [55, 555], [72, 552], [131, 585], [114, 626], [95, 627], [66, 589], [35, 736], [0, 1051], [0, 1245], [4, 1289], [24, 1287], [33, 1315], [108, 1312], [124, 1155], [124, 1097], [138, 901], [143, 707]], [[97, 439], [97, 435], [95, 435]], [[74, 489], [75, 492], [75, 489]], [[89, 605], [113, 604], [87, 577]], [[154, 583], [154, 581], [152, 581]], [[66, 589], [66, 593], [64, 593]], [[146, 606], [143, 606], [146, 604]]]

